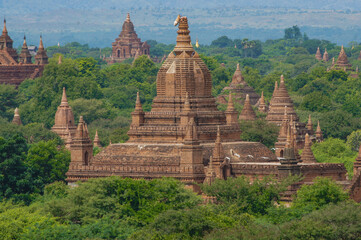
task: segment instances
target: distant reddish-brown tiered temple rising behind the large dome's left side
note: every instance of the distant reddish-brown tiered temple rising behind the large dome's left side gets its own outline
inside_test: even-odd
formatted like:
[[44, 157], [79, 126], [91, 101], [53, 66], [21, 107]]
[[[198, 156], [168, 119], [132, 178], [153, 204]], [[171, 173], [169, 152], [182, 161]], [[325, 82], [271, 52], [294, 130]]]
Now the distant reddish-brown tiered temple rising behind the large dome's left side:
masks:
[[108, 63], [121, 62], [128, 58], [137, 58], [141, 55], [149, 56], [150, 46], [147, 42], [142, 42], [134, 30], [134, 25], [130, 20], [129, 13], [123, 23], [123, 28], [119, 36], [112, 43], [112, 55], [107, 58]]

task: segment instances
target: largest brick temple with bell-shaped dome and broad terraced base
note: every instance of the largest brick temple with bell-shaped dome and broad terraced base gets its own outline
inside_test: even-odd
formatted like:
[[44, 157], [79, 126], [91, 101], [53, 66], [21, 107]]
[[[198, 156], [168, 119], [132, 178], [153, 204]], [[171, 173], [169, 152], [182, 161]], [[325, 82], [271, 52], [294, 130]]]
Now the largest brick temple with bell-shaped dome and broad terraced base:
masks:
[[221, 112], [211, 89], [210, 72], [191, 45], [187, 18], [181, 17], [177, 44], [157, 76], [152, 110], [143, 111], [138, 94], [129, 141], [111, 144], [92, 159], [81, 159], [85, 155], [78, 151], [72, 158], [67, 181], [110, 175], [146, 179], [166, 176], [192, 185], [205, 180], [205, 167], [219, 144], [224, 157], [214, 157], [212, 166], [224, 178], [231, 174], [232, 156], [237, 156], [238, 161], [277, 162], [264, 145], [240, 140], [232, 97], [227, 111]]

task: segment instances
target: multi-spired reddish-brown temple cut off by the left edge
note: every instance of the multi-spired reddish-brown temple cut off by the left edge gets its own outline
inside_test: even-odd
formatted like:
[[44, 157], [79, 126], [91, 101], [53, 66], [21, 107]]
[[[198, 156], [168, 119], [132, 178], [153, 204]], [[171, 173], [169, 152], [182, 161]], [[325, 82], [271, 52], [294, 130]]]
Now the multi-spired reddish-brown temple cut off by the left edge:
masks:
[[31, 55], [24, 43], [20, 55], [13, 48], [13, 40], [8, 35], [6, 20], [0, 36], [0, 84], [20, 85], [25, 79], [34, 79], [41, 76], [44, 65], [48, 63], [48, 57], [40, 37], [39, 50], [35, 56], [35, 64], [31, 61]]

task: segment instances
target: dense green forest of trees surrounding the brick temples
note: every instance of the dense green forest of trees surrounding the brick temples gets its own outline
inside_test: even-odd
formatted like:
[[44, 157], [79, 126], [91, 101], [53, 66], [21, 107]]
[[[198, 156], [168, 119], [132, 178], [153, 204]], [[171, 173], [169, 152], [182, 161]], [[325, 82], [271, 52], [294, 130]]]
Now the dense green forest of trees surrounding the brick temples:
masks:
[[[174, 45], [147, 41], [151, 59], [167, 56]], [[344, 163], [349, 177], [361, 142], [361, 77], [327, 70], [331, 61], [315, 59], [317, 47], [337, 59], [340, 46], [309, 39], [297, 26], [282, 39], [215, 39], [196, 48], [212, 74], [216, 97], [239, 63], [245, 81], [270, 100], [280, 75], [300, 120], [320, 121], [325, 141], [312, 150], [318, 162]], [[356, 67], [361, 45], [345, 47]], [[0, 236], [4, 239], [358, 239], [360, 206], [341, 187], [319, 178], [303, 186], [290, 207], [280, 193], [297, 179], [217, 181], [201, 186], [215, 201], [173, 179], [152, 181], [94, 179], [76, 188], [65, 185], [70, 153], [50, 131], [63, 87], [76, 121], [83, 116], [91, 138], [98, 130], [103, 146], [125, 142], [137, 91], [145, 111], [156, 95], [161, 63], [146, 56], [107, 65], [110, 48], [69, 43], [47, 48], [51, 57], [43, 76], [18, 88], [0, 85]], [[58, 63], [62, 56], [61, 64]], [[23, 126], [11, 124], [19, 107]], [[220, 109], [225, 106], [219, 105]], [[236, 105], [237, 110], [242, 106]], [[257, 112], [257, 109], [255, 109]], [[241, 122], [241, 138], [269, 148], [278, 127], [259, 120]], [[94, 149], [97, 154], [99, 149]], [[346, 237], [345, 237], [346, 236]]]

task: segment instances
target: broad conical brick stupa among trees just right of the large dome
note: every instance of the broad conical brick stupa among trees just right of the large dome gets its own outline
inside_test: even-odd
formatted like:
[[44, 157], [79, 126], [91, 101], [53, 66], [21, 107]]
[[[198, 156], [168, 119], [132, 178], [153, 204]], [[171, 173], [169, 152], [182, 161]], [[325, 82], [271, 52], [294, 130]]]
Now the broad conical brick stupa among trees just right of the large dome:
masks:
[[[229, 86], [225, 87], [223, 92], [230, 92], [233, 94], [233, 98], [235, 102], [243, 104], [246, 95], [248, 94], [250, 103], [252, 105], [256, 105], [258, 100], [260, 99], [259, 95], [254, 91], [254, 89], [247, 84], [242, 76], [241, 69], [239, 64], [237, 64], [237, 69], [233, 74], [232, 81]], [[221, 94], [217, 97], [217, 101], [222, 104], [227, 103], [227, 94]]]

